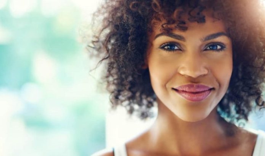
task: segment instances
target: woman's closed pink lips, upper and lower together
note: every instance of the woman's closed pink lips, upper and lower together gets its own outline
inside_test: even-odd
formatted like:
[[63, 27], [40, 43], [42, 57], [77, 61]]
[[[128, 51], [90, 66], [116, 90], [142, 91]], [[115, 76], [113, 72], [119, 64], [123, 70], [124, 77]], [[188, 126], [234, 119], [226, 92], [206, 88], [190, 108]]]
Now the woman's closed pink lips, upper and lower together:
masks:
[[210, 95], [213, 87], [201, 84], [188, 84], [173, 88], [173, 90], [186, 100], [202, 101]]

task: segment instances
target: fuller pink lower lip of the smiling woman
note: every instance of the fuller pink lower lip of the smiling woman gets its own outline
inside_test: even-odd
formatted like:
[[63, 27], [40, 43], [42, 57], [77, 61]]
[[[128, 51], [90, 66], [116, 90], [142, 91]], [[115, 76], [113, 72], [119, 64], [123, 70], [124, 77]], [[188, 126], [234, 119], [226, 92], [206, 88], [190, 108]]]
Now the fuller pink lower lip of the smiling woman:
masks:
[[210, 93], [210, 90], [198, 92], [198, 93], [191, 93], [191, 92], [186, 92], [186, 91], [180, 91], [180, 90], [175, 90], [179, 95], [181, 95], [184, 99], [189, 100], [189, 101], [202, 101], [206, 99]]

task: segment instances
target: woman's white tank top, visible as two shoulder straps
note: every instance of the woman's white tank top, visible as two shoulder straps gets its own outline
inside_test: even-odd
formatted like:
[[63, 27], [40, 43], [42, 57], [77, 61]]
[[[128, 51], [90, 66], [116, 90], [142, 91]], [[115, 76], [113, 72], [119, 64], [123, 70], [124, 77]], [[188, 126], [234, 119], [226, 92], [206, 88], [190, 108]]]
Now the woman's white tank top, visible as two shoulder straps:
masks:
[[[258, 134], [258, 138], [254, 147], [254, 152], [252, 156], [265, 156], [265, 132], [258, 130], [252, 132]], [[113, 148], [114, 156], [127, 156], [125, 144], [116, 146]]]

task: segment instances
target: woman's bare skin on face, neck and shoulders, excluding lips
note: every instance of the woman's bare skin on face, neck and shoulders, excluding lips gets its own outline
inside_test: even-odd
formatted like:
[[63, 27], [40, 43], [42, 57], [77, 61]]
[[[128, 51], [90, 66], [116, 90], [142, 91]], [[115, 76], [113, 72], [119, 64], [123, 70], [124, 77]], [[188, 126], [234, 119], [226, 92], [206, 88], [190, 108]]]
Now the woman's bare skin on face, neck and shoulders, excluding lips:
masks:
[[[253, 154], [256, 134], [227, 123], [217, 114], [232, 74], [232, 43], [223, 22], [205, 14], [205, 23], [187, 23], [185, 32], [174, 30], [168, 36], [155, 27], [150, 35], [146, 67], [157, 95], [158, 116], [149, 130], [126, 143], [128, 156]], [[217, 33], [222, 35], [213, 35]], [[223, 49], [217, 51], [220, 45]], [[193, 102], [172, 89], [190, 83], [213, 90], [206, 99]]]

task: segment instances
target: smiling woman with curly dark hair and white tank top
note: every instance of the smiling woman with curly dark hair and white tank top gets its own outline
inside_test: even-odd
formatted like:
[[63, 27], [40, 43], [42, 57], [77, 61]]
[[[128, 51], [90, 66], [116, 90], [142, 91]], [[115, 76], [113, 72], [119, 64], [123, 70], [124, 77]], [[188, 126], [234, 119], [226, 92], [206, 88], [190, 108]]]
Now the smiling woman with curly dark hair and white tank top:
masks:
[[260, 0], [107, 0], [93, 42], [112, 107], [150, 129], [100, 156], [265, 156], [264, 132], [235, 126], [264, 108]]

